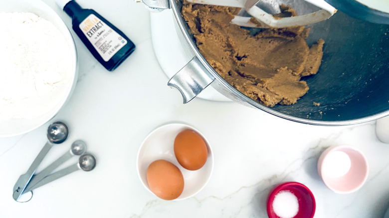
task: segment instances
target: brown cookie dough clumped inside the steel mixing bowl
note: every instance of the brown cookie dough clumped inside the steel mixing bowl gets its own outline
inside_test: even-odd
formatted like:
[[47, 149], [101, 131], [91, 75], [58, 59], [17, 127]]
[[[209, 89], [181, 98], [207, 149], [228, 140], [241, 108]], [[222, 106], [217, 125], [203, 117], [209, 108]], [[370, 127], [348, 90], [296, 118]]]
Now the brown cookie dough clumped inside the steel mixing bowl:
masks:
[[[301, 77], [319, 69], [324, 40], [309, 48], [309, 29], [304, 26], [262, 29], [252, 35], [230, 23], [240, 9], [184, 0], [182, 14], [201, 54], [229, 84], [268, 107], [296, 103], [308, 91]], [[280, 9], [275, 17], [296, 15], [288, 6]]]

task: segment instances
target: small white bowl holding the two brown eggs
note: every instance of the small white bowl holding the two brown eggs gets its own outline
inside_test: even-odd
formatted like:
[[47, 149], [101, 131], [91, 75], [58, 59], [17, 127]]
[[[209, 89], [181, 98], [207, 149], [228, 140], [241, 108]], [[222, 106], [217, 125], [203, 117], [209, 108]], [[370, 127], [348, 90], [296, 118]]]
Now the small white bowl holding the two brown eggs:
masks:
[[[194, 130], [201, 135], [206, 143], [208, 157], [204, 166], [202, 166], [199, 170], [191, 171], [185, 169], [179, 164], [174, 154], [174, 139], [179, 132], [185, 129]], [[170, 161], [176, 165], [184, 176], [184, 191], [175, 200], [187, 199], [197, 194], [209, 181], [213, 170], [213, 154], [208, 141], [200, 131], [183, 123], [169, 123], [156, 128], [147, 135], [139, 148], [137, 156], [138, 176], [144, 187], [150, 192], [151, 190], [146, 177], [147, 168], [153, 161], [159, 159]]]

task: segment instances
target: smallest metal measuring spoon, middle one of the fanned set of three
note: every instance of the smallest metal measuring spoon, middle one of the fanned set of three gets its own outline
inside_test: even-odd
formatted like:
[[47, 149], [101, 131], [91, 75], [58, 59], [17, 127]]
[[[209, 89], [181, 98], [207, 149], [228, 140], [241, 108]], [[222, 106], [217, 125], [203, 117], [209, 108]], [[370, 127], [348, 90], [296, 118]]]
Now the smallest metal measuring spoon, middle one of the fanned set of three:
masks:
[[34, 188], [34, 186], [42, 180], [44, 177], [49, 175], [53, 170], [63, 164], [65, 161], [69, 160], [74, 155], [81, 155], [86, 151], [86, 143], [83, 140], [76, 140], [72, 143], [70, 150], [64, 153], [61, 157], [59, 157], [56, 161], [51, 163], [48, 167], [44, 168], [38, 174], [32, 176], [30, 182], [25, 188], [24, 192], [29, 192]]

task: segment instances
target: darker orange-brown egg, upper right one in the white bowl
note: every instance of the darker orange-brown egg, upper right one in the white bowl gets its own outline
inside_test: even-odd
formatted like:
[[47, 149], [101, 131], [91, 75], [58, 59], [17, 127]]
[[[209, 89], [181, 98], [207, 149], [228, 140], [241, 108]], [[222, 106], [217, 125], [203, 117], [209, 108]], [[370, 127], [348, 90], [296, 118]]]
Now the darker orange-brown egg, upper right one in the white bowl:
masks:
[[208, 150], [204, 139], [195, 131], [181, 131], [174, 140], [174, 154], [187, 170], [198, 170], [204, 166]]

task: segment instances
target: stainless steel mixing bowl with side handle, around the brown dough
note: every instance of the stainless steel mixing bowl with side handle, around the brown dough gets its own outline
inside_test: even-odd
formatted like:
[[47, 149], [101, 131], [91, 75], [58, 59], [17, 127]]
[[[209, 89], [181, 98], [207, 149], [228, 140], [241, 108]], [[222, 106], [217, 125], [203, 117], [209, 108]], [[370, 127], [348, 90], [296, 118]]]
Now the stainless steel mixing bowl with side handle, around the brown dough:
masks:
[[[302, 123], [349, 125], [389, 115], [389, 25], [358, 20], [338, 11], [328, 20], [309, 26], [308, 45], [320, 38], [326, 42], [319, 71], [303, 78], [310, 89], [296, 104], [268, 108], [237, 91], [206, 62], [182, 18], [180, 0], [143, 0], [145, 4], [146, 1], [159, 2], [154, 7], [172, 8], [194, 52], [194, 59], [168, 84], [179, 89], [184, 103], [210, 84], [242, 105]], [[320, 106], [314, 106], [314, 102]]]

